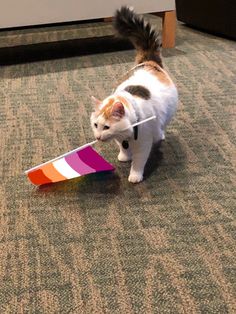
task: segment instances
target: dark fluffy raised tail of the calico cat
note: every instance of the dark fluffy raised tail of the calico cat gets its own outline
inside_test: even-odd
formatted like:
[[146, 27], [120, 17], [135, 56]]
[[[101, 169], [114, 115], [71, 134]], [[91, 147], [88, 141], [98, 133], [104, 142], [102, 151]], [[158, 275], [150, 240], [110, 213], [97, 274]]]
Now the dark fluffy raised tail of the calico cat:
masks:
[[114, 28], [121, 37], [128, 38], [137, 50], [136, 62], [155, 61], [162, 66], [159, 34], [128, 7], [115, 12]]

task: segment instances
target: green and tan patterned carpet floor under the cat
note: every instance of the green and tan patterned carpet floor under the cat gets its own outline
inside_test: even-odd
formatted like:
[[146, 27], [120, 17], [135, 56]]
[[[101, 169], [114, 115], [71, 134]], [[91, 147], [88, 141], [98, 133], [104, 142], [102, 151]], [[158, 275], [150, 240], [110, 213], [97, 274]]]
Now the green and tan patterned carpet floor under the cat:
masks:
[[[110, 32], [99, 25], [0, 45]], [[133, 50], [1, 66], [0, 313], [236, 313], [235, 50], [178, 25], [164, 63], [179, 110], [139, 185], [111, 143], [96, 149], [114, 174], [42, 189], [23, 175], [93, 140], [90, 95], [111, 92]]]

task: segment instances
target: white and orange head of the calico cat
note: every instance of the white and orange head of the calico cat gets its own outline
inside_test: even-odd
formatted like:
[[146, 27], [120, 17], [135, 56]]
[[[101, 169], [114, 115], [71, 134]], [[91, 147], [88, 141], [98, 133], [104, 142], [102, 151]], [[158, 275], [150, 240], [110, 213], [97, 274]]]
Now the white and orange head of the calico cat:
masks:
[[[94, 136], [97, 140], [124, 140], [132, 135], [128, 114], [129, 103], [118, 96], [109, 96], [104, 101], [92, 97], [94, 112], [90, 121]], [[127, 129], [124, 131], [124, 129]]]

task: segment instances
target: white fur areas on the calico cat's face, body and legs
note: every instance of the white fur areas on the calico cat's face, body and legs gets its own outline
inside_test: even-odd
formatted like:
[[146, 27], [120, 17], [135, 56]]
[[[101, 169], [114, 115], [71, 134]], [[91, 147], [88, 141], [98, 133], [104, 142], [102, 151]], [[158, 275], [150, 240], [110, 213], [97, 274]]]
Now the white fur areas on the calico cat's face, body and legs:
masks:
[[[165, 72], [168, 76], [168, 74]], [[133, 183], [138, 183], [143, 180], [144, 167], [149, 157], [153, 143], [165, 138], [165, 128], [174, 116], [177, 108], [178, 93], [174, 83], [170, 80], [170, 84], [164, 84], [151, 72], [145, 69], [137, 69], [134, 74], [120, 84], [114, 95], [124, 97], [130, 104], [130, 108], [125, 107], [125, 117], [116, 123], [112, 123], [109, 130], [104, 130], [106, 125], [104, 117], [96, 116], [93, 113], [91, 123], [96, 137], [101, 140], [110, 138], [116, 139], [119, 145], [120, 153], [118, 159], [120, 161], [128, 161], [132, 158], [132, 165], [128, 180]], [[125, 91], [128, 85], [141, 85], [146, 87], [151, 97], [148, 100], [135, 97]], [[108, 97], [109, 98], [109, 97]], [[101, 103], [102, 107], [107, 102], [107, 99]], [[137, 122], [137, 114], [139, 120], [144, 120], [156, 115], [156, 120], [149, 121], [138, 127], [138, 139], [134, 140], [133, 130], [130, 127], [127, 131], [121, 132], [125, 127], [131, 126]], [[94, 128], [94, 123], [98, 124], [98, 128]], [[100, 127], [100, 129], [99, 129]], [[129, 149], [125, 150], [121, 143], [123, 140], [129, 141]]]

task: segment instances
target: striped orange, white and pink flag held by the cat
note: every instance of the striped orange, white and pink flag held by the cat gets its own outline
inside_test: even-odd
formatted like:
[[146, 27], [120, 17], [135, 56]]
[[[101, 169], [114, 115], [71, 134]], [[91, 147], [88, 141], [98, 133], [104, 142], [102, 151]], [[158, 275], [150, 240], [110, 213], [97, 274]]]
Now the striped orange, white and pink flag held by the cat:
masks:
[[94, 148], [86, 146], [27, 170], [26, 174], [33, 184], [43, 185], [114, 169]]

